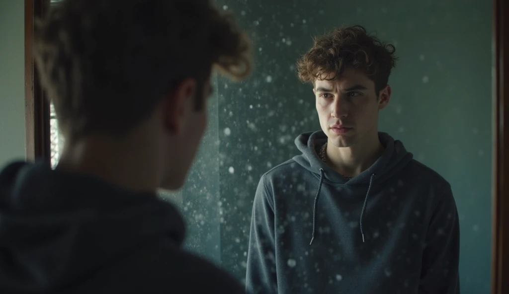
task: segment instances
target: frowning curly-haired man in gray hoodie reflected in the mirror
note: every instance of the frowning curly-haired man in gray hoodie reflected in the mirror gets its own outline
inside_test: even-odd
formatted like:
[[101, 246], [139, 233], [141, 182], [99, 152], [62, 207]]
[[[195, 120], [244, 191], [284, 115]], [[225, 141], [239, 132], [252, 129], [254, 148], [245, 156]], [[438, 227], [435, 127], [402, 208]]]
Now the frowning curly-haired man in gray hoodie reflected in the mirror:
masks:
[[459, 225], [449, 183], [378, 132], [394, 47], [343, 27], [298, 62], [321, 131], [262, 176], [246, 287], [253, 293], [459, 293]]

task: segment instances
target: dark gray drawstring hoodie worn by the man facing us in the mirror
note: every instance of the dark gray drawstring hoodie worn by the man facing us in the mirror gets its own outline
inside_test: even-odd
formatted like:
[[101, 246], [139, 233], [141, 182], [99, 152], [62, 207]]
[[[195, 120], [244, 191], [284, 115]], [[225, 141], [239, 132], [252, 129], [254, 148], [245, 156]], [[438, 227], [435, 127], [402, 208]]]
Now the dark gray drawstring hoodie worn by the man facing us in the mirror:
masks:
[[297, 137], [302, 155], [262, 176], [248, 292], [459, 293], [459, 224], [449, 183], [400, 141], [379, 138], [382, 156], [349, 181], [319, 159], [322, 131]]

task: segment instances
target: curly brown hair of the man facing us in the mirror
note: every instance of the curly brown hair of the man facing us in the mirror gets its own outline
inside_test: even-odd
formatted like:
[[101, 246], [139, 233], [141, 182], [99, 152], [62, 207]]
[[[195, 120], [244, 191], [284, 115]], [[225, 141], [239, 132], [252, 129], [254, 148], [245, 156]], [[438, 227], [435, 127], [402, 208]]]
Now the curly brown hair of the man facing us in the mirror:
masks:
[[314, 83], [319, 78], [333, 80], [346, 68], [362, 70], [375, 82], [375, 91], [387, 85], [397, 57], [392, 44], [380, 41], [360, 25], [336, 28], [314, 39], [314, 45], [297, 62], [299, 79]]

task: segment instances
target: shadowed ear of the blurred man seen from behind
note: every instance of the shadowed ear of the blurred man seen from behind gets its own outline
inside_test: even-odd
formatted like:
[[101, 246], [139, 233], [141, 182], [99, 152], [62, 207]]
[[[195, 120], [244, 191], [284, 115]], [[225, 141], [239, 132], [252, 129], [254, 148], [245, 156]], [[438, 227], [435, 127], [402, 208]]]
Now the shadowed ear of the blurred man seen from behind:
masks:
[[196, 86], [195, 79], [187, 78], [167, 95], [164, 107], [164, 124], [169, 132], [180, 134], [184, 129], [187, 116], [194, 109]]

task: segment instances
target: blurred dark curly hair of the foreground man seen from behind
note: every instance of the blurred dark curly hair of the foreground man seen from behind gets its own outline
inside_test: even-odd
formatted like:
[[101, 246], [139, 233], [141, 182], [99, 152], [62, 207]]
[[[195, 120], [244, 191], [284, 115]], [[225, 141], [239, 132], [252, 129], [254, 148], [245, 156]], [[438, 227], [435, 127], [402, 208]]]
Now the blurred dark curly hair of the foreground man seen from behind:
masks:
[[[64, 0], [37, 21], [34, 57], [66, 135], [121, 134], [186, 78], [248, 75], [250, 44], [208, 0]], [[196, 109], [203, 107], [196, 95]]]

